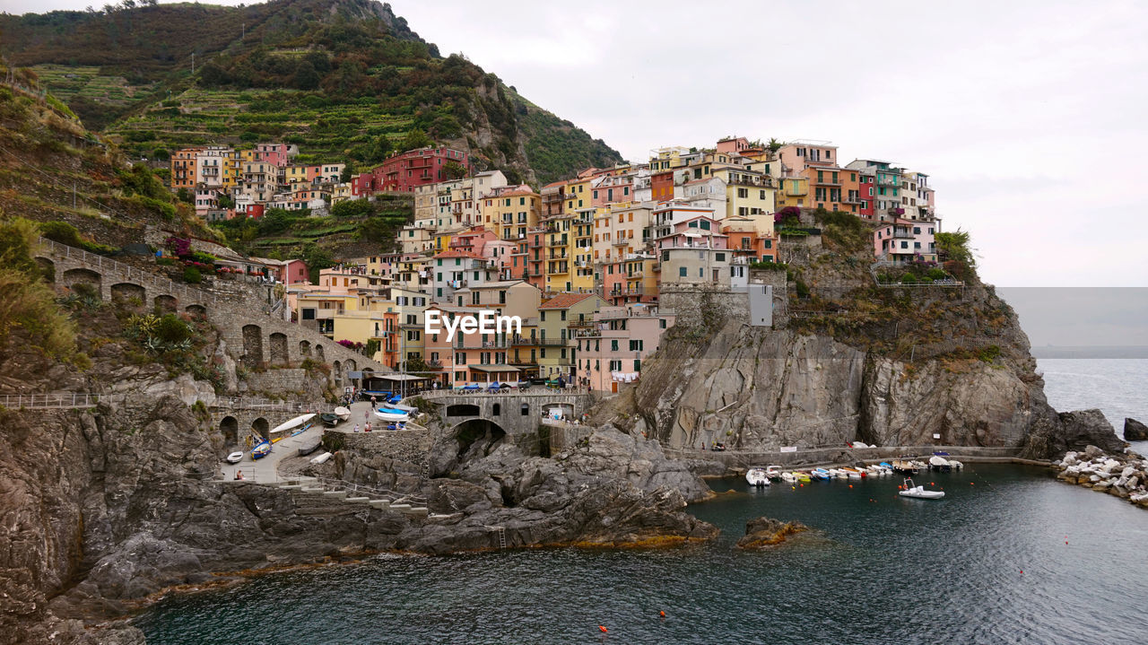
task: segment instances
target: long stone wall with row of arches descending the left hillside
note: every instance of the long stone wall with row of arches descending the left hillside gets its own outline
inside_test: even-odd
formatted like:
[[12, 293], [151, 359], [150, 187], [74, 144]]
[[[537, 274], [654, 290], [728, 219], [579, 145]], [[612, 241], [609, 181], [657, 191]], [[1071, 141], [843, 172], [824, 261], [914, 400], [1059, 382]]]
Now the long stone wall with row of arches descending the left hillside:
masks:
[[52, 271], [57, 287], [71, 288], [78, 282], [87, 282], [109, 302], [117, 296], [139, 297], [149, 306], [207, 317], [219, 329], [234, 357], [249, 368], [261, 364], [288, 365], [310, 358], [332, 365], [335, 387], [347, 384], [344, 375], [349, 371], [391, 371], [318, 332], [265, 316], [261, 308], [241, 297], [173, 282], [51, 240], [41, 240], [37, 261]]

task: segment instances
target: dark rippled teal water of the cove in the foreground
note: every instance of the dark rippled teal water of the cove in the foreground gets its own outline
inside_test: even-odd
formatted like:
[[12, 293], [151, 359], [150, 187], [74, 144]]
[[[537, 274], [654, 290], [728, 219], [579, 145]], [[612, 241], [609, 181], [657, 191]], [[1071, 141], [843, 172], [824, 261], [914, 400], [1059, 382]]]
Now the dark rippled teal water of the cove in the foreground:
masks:
[[[692, 506], [722, 529], [705, 546], [386, 555], [168, 598], [137, 623], [172, 645], [597, 643], [598, 624], [635, 644], [1143, 642], [1143, 510], [1035, 468], [928, 475], [943, 502], [899, 481]], [[824, 538], [735, 551], [759, 515]]]

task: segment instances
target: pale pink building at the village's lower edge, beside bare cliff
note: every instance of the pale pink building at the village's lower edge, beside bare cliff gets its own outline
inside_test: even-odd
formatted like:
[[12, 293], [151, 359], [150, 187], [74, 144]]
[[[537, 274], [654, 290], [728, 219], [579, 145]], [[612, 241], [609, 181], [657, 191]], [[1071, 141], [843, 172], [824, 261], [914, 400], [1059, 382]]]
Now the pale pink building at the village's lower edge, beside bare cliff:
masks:
[[598, 391], [616, 393], [621, 383], [637, 382], [642, 360], [653, 353], [661, 335], [674, 326], [673, 313], [657, 306], [607, 306], [594, 314], [594, 328], [575, 336], [577, 373]]

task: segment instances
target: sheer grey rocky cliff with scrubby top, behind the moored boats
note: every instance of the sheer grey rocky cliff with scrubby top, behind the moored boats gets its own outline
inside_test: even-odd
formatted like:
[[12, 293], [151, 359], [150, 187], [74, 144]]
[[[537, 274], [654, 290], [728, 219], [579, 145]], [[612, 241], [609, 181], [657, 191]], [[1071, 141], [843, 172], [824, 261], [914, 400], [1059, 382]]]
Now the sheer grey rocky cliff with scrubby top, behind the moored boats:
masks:
[[821, 249], [788, 277], [762, 277], [785, 294], [773, 328], [747, 324], [745, 294], [670, 289], [662, 306], [677, 324], [623, 411], [634, 429], [693, 450], [860, 441], [1050, 457], [1119, 443], [1102, 418], [1048, 405], [1027, 336], [992, 287], [975, 275], [962, 287], [876, 287], [860, 259]]

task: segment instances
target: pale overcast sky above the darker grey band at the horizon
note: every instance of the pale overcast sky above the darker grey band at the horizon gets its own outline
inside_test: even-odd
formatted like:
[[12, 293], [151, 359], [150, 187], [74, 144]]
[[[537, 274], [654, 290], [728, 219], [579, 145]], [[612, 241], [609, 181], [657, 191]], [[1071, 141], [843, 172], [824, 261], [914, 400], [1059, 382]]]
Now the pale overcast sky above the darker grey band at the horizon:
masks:
[[1148, 286], [1148, 2], [391, 5], [631, 161], [726, 134], [830, 140], [929, 173], [988, 282]]

